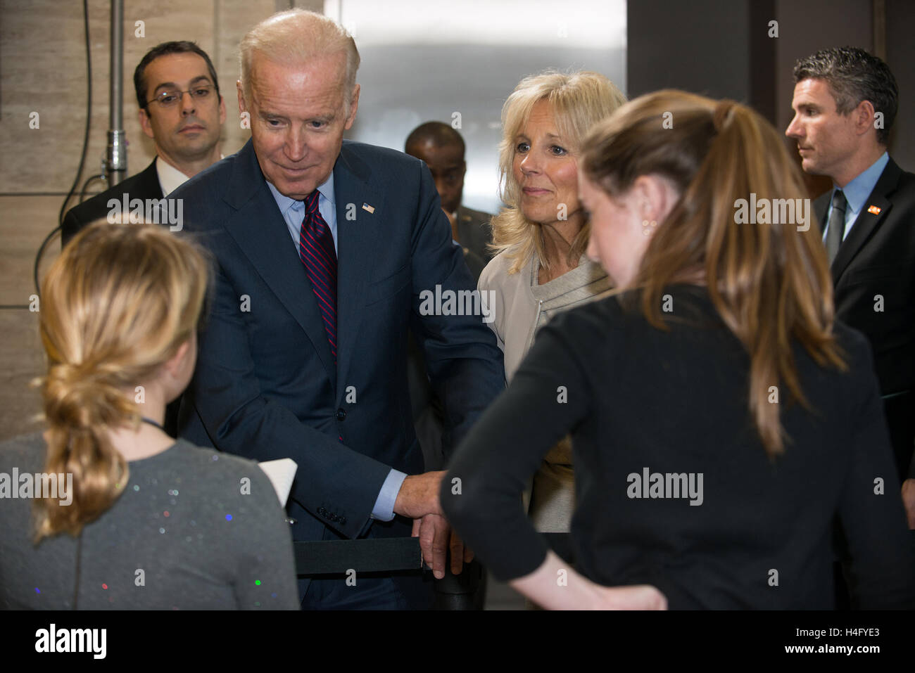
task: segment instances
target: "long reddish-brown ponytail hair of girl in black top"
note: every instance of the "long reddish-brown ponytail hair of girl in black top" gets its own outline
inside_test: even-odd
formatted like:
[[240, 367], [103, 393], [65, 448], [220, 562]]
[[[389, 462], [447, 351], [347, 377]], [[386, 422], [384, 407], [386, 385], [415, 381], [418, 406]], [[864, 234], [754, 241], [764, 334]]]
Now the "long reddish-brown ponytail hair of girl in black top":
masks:
[[642, 290], [641, 309], [651, 325], [664, 327], [663, 288], [705, 275], [717, 312], [748, 350], [749, 408], [770, 457], [782, 453], [786, 439], [770, 386], [784, 383], [810, 409], [792, 342], [820, 366], [845, 369], [833, 334], [832, 278], [816, 227], [798, 230], [796, 219], [737, 223], [739, 199], [750, 194], [757, 203], [807, 198], [782, 141], [769, 122], [735, 101], [656, 91], [599, 123], [581, 160], [587, 179], [611, 198], [650, 174], [669, 178], [680, 190], [651, 237], [633, 286]]

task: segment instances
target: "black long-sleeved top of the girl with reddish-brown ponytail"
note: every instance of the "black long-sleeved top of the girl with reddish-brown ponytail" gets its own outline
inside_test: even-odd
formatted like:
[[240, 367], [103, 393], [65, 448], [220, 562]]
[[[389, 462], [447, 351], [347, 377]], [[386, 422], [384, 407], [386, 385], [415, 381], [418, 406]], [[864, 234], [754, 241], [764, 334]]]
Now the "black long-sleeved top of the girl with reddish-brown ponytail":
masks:
[[[594, 582], [653, 584], [672, 609], [832, 609], [837, 518], [856, 602], [915, 605], [915, 553], [865, 337], [836, 324], [845, 373], [793, 345], [813, 413], [782, 387], [790, 440], [770, 460], [748, 409], [746, 348], [704, 288], [665, 292], [667, 330], [648, 323], [630, 291], [537, 333], [442, 481], [442, 508], [470, 549], [502, 581], [541, 565], [546, 541], [521, 495], [571, 432], [572, 547]], [[875, 493], [877, 477], [885, 490]]]

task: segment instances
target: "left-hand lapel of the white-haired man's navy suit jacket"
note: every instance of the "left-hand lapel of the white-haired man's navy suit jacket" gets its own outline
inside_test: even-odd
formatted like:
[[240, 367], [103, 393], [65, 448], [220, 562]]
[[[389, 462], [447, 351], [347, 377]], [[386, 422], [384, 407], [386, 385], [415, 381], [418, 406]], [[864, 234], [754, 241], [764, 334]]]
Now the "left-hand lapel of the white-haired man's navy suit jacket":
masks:
[[238, 153], [226, 202], [236, 212], [225, 228], [244, 255], [305, 330], [336, 389], [337, 368], [305, 266], [296, 254], [285, 220], [267, 187], [249, 140]]

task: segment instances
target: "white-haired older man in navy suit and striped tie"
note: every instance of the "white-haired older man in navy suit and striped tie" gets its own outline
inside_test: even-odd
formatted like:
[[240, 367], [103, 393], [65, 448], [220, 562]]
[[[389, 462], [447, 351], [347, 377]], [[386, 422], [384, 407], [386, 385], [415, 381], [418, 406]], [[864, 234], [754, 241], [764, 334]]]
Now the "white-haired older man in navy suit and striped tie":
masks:
[[[343, 142], [359, 103], [359, 53], [333, 21], [272, 16], [242, 39], [241, 61], [251, 141], [173, 195], [185, 199], [185, 230], [217, 262], [182, 436], [258, 460], [293, 458], [294, 539], [413, 533], [436, 577], [449, 546], [459, 572], [470, 556], [441, 516], [442, 473], [423, 474], [414, 434], [407, 330], [445, 404], [449, 448], [504, 374], [481, 315], [420, 301], [474, 286], [435, 184], [412, 157]], [[303, 607], [431, 604], [418, 572], [346, 579], [303, 580]]]

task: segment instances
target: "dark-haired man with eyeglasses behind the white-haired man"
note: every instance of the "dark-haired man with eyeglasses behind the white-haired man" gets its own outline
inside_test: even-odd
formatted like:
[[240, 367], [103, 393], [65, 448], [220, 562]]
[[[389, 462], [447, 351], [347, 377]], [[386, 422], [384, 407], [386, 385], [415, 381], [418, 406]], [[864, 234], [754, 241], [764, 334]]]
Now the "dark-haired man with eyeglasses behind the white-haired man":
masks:
[[96, 219], [105, 219], [109, 199], [161, 199], [188, 178], [221, 159], [220, 133], [226, 119], [216, 69], [195, 43], [163, 42], [146, 52], [134, 70], [143, 133], [153, 139], [156, 158], [135, 176], [70, 208], [62, 244]]

